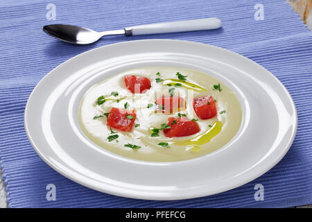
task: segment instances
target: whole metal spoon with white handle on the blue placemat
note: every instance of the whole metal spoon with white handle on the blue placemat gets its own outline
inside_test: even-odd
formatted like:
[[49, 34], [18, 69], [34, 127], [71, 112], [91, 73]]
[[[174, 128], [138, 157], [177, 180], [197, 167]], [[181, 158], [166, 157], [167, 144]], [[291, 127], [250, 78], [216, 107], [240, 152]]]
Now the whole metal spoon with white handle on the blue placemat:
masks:
[[180, 22], [164, 22], [131, 26], [128, 28], [96, 32], [89, 28], [79, 26], [53, 24], [43, 27], [43, 31], [59, 40], [71, 44], [91, 44], [105, 35], [150, 35], [160, 33], [178, 33], [187, 31], [210, 30], [221, 27], [221, 21], [217, 18], [193, 19]]

